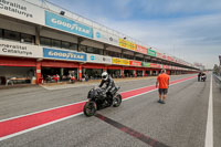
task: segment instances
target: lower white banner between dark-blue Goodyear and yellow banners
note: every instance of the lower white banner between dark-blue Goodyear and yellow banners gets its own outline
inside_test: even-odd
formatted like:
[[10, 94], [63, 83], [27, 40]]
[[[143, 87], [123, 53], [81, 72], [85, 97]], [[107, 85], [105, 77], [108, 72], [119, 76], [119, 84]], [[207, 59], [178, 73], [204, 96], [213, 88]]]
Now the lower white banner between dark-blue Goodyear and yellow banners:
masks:
[[87, 62], [112, 64], [112, 57], [110, 56], [96, 55], [96, 54], [87, 54]]

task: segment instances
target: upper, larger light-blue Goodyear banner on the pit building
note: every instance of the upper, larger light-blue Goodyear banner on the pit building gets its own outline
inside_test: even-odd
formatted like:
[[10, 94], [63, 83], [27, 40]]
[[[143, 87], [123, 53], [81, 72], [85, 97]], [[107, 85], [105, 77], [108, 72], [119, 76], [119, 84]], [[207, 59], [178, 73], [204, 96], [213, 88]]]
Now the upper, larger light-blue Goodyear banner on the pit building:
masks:
[[49, 11], [45, 11], [45, 25], [90, 39], [93, 38], [93, 29], [91, 27]]

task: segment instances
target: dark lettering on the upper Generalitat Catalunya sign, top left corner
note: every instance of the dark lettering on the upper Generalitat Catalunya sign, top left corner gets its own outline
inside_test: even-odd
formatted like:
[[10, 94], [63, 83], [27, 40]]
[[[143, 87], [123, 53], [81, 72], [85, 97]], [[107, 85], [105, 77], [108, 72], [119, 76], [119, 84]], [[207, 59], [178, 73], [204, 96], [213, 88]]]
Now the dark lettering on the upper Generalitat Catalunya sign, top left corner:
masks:
[[0, 0], [0, 9], [10, 11], [17, 14], [24, 15], [27, 18], [33, 18], [31, 13], [28, 12], [27, 7], [22, 6], [21, 3], [18, 2], [11, 2], [8, 0]]

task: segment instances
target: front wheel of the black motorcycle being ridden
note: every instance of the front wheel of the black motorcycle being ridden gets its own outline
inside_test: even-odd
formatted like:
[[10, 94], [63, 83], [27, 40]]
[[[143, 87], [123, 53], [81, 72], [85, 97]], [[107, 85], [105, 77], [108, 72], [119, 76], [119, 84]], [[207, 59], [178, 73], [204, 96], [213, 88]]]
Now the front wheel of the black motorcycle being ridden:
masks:
[[84, 105], [84, 115], [87, 117], [93, 116], [96, 113], [96, 103], [95, 102], [86, 102]]

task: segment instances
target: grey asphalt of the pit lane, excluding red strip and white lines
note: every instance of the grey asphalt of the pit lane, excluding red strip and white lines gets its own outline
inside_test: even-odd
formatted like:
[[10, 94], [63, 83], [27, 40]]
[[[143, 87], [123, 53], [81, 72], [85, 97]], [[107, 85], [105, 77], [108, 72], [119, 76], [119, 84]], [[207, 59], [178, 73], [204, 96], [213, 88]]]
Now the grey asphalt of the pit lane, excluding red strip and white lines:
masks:
[[[171, 76], [171, 81], [191, 75]], [[120, 92], [154, 85], [156, 78], [119, 82]], [[0, 91], [0, 119], [85, 101], [93, 86], [49, 91], [25, 87]], [[1, 147], [146, 147], [136, 136], [119, 130], [116, 124], [171, 147], [203, 147], [210, 93], [210, 76], [206, 82], [197, 77], [172, 85], [166, 104], [159, 104], [154, 91], [127, 101], [117, 107], [98, 111], [115, 122], [108, 124], [97, 117], [80, 115], [0, 141]], [[221, 91], [213, 81], [213, 138], [221, 145]]]

